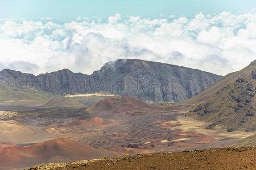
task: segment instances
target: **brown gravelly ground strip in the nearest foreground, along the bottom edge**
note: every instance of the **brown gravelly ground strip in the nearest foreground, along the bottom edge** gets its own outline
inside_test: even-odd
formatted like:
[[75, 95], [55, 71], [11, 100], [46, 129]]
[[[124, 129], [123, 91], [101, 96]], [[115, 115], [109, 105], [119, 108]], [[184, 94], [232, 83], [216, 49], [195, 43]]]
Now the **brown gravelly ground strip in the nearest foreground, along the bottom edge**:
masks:
[[167, 154], [126, 155], [30, 169], [256, 169], [256, 148], [214, 148]]

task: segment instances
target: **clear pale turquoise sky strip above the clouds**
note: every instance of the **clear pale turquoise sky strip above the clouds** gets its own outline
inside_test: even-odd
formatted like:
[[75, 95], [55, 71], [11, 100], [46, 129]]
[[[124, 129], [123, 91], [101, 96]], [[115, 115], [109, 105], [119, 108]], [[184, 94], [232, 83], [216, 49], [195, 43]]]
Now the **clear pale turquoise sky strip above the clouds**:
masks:
[[144, 17], [192, 16], [199, 12], [248, 11], [254, 7], [255, 0], [0, 0], [0, 18], [73, 19], [77, 16], [107, 17], [116, 13]]

